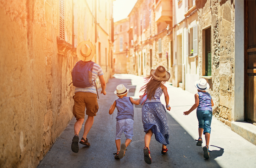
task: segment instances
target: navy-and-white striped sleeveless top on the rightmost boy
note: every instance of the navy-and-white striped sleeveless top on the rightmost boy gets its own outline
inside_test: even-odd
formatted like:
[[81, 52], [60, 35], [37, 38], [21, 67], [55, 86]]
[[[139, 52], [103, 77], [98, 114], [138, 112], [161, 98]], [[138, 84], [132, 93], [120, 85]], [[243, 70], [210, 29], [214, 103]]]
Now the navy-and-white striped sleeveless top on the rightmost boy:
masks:
[[209, 110], [212, 112], [212, 97], [208, 92], [198, 92], [199, 105], [197, 110]]

